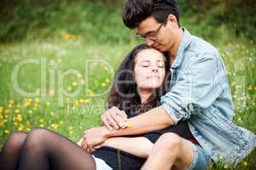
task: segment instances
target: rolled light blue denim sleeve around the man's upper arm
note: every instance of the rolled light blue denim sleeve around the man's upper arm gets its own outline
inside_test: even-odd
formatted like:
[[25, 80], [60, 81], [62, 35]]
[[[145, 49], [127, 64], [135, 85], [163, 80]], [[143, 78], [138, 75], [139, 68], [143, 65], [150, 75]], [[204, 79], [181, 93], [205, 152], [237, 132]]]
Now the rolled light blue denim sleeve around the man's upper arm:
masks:
[[201, 109], [212, 105], [221, 94], [224, 74], [215, 54], [190, 55], [180, 68], [173, 70], [170, 89], [161, 97], [161, 106], [175, 124], [192, 114], [200, 114]]

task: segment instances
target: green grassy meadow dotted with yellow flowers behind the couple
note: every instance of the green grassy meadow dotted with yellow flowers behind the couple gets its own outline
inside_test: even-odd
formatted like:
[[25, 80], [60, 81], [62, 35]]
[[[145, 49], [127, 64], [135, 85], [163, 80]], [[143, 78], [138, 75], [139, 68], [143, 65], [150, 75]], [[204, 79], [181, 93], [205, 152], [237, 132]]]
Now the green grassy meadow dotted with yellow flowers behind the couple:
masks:
[[[99, 125], [113, 72], [139, 43], [123, 26], [121, 12], [101, 3], [15, 8], [0, 33], [17, 37], [0, 44], [0, 146], [15, 131], [47, 127], [78, 141], [85, 129]], [[32, 23], [22, 19], [26, 14]], [[210, 24], [182, 18], [182, 26], [219, 49], [236, 106], [234, 122], [256, 133], [255, 43]], [[254, 150], [236, 169], [256, 169], [255, 160]]]

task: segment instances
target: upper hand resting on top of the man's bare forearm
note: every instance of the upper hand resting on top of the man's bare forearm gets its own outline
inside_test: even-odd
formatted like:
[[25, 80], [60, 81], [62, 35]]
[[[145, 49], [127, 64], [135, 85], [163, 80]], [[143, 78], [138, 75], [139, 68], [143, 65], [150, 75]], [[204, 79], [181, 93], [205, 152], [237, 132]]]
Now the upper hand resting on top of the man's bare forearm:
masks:
[[103, 113], [101, 120], [102, 125], [113, 131], [113, 129], [125, 128], [128, 119], [125, 111], [120, 111], [119, 108], [113, 106]]

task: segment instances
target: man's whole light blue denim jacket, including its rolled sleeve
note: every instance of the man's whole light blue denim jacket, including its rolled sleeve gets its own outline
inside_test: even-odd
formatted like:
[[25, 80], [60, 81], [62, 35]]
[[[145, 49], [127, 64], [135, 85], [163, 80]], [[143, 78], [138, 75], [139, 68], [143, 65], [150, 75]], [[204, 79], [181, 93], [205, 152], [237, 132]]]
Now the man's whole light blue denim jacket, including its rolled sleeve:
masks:
[[255, 148], [256, 136], [232, 123], [230, 86], [218, 50], [183, 28], [171, 72], [161, 106], [176, 124], [188, 120], [191, 133], [213, 161], [222, 158], [235, 167]]

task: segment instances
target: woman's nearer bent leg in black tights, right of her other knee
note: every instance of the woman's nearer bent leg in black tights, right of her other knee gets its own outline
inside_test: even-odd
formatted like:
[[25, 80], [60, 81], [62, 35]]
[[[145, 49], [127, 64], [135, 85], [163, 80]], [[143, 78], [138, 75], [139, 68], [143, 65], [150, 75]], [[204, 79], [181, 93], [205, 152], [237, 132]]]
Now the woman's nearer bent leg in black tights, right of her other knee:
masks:
[[20, 170], [95, 170], [90, 153], [53, 131], [37, 128], [26, 138], [20, 152]]

